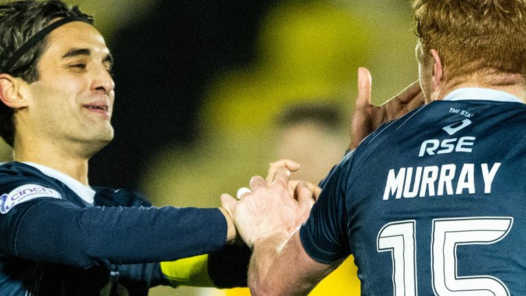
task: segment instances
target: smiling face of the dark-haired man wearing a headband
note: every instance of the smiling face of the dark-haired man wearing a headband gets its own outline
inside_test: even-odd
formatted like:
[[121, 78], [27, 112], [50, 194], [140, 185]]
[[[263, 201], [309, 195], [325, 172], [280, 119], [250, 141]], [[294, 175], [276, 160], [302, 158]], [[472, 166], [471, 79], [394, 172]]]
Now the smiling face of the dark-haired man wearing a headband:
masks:
[[82, 22], [55, 29], [38, 62], [40, 79], [27, 85], [27, 108], [16, 119], [17, 133], [85, 147], [88, 154], [99, 151], [113, 138], [111, 67], [110, 51], [97, 29]]

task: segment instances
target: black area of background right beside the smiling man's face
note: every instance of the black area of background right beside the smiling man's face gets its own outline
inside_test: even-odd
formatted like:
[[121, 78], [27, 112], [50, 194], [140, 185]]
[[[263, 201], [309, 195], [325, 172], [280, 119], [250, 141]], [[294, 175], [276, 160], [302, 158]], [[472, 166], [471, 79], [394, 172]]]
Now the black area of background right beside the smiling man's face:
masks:
[[258, 25], [276, 2], [163, 0], [118, 29], [115, 138], [92, 158], [90, 183], [137, 188], [149, 154], [195, 140], [208, 82], [251, 62]]

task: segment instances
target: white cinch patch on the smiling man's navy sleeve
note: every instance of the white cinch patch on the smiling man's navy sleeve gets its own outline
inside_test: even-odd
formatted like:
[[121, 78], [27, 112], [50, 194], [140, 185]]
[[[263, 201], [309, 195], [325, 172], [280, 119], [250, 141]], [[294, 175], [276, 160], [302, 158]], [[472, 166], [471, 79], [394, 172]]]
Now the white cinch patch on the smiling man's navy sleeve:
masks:
[[25, 201], [30, 201], [38, 197], [53, 197], [61, 199], [60, 193], [56, 190], [46, 188], [36, 184], [27, 184], [15, 188], [8, 194], [0, 196], [0, 212], [5, 214], [17, 204], [22, 204]]

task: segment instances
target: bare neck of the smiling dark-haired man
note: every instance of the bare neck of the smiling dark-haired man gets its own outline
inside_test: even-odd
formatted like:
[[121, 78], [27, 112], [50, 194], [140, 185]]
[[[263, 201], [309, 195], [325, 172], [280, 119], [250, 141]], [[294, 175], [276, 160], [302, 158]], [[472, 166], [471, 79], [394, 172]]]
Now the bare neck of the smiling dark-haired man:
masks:
[[[26, 144], [26, 143], [29, 143]], [[14, 141], [14, 160], [18, 162], [34, 162], [51, 169], [65, 173], [82, 184], [88, 184], [88, 157], [68, 153], [54, 145], [38, 145], [35, 141]]]

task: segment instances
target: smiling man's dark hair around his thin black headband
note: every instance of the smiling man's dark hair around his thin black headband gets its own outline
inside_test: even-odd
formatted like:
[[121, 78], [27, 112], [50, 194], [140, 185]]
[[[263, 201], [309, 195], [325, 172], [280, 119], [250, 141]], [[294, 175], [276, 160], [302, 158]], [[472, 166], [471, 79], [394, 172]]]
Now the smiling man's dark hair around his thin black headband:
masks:
[[[29, 38], [44, 29], [55, 18], [78, 17], [92, 24], [93, 18], [84, 14], [77, 6], [68, 7], [58, 0], [14, 1], [0, 4], [0, 73], [21, 77], [31, 84], [38, 81], [38, 61], [47, 46], [44, 38], [16, 61], [10, 69], [5, 63]], [[13, 110], [0, 103], [0, 136], [11, 147], [14, 142]]]

